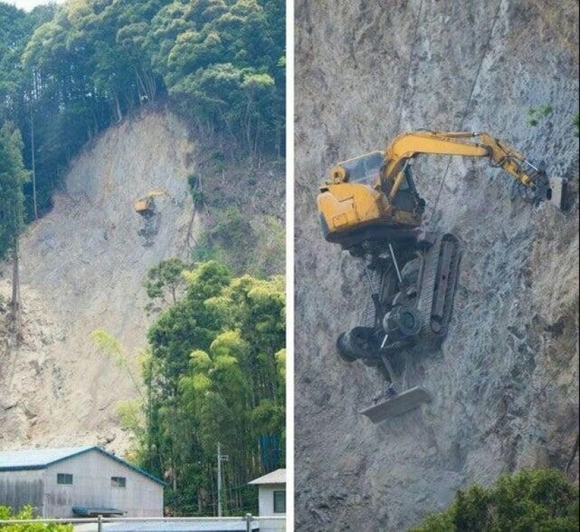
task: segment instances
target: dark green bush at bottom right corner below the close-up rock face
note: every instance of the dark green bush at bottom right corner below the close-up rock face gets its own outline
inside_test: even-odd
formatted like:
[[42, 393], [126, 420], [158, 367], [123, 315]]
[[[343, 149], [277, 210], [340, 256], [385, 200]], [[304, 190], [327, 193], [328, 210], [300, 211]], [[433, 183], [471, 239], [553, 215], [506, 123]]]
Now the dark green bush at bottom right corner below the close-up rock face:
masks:
[[523, 470], [501, 476], [491, 488], [459, 490], [449, 510], [426, 517], [413, 531], [577, 531], [578, 496], [560, 471]]

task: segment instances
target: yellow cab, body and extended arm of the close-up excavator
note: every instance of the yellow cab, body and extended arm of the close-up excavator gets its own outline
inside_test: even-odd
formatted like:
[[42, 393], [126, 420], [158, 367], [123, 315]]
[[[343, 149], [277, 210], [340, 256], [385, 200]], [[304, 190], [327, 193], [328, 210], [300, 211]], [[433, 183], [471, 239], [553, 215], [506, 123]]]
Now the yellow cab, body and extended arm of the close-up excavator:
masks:
[[[385, 234], [384, 228], [392, 233], [420, 226], [425, 201], [415, 188], [408, 162], [423, 154], [489, 157], [491, 164], [520, 183], [527, 201], [556, 202], [543, 169], [489, 134], [411, 131], [394, 138], [384, 153], [367, 153], [330, 169], [330, 179], [321, 186], [316, 200], [326, 240], [348, 247], [380, 238], [377, 235]], [[556, 192], [563, 197], [565, 180], [560, 181]]]

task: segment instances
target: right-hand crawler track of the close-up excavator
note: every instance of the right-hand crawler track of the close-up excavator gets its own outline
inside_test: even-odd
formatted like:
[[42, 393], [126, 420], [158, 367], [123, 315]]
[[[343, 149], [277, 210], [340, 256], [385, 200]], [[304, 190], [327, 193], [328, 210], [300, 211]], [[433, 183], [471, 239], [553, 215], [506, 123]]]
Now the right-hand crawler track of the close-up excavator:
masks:
[[425, 252], [417, 309], [425, 344], [437, 346], [444, 339], [453, 312], [459, 276], [460, 247], [457, 238], [445, 233]]

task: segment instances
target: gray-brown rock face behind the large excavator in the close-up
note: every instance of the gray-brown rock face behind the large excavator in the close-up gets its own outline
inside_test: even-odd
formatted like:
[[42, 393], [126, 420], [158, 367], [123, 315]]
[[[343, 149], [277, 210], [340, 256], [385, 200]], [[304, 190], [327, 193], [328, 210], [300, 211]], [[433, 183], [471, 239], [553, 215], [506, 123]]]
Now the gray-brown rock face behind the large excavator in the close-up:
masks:
[[[578, 4], [299, 0], [296, 13], [296, 526], [400, 531], [457, 488], [563, 467], [574, 445]], [[381, 378], [335, 349], [368, 287], [323, 241], [315, 197], [337, 160], [420, 128], [505, 138], [567, 177], [572, 205], [511, 201], [510, 178], [482, 160], [415, 160], [427, 226], [460, 239], [461, 273], [446, 342], [415, 364], [434, 401], [373, 425], [357, 411]]]

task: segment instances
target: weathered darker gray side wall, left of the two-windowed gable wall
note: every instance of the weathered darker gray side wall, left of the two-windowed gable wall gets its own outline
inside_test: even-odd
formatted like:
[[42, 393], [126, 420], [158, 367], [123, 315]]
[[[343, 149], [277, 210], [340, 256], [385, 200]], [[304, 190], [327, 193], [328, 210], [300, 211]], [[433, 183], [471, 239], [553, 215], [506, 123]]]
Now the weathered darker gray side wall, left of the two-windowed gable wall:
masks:
[[0, 506], [9, 506], [18, 512], [23, 506], [32, 505], [36, 514], [41, 513], [44, 471], [1, 471]]

